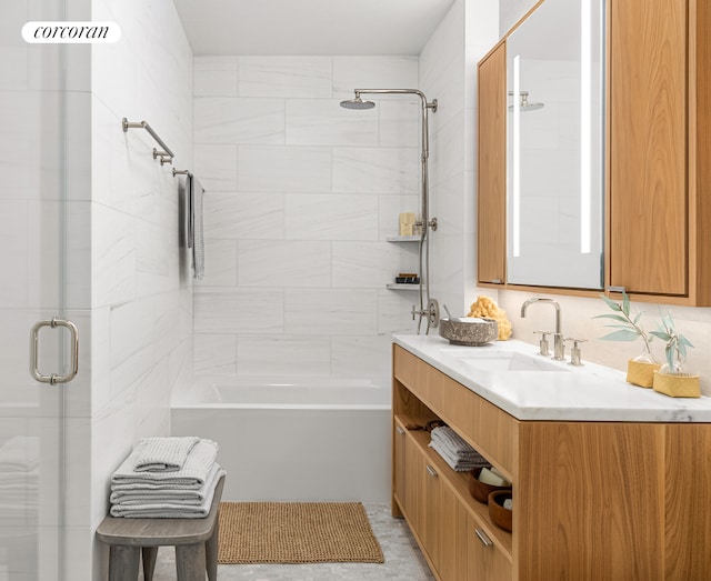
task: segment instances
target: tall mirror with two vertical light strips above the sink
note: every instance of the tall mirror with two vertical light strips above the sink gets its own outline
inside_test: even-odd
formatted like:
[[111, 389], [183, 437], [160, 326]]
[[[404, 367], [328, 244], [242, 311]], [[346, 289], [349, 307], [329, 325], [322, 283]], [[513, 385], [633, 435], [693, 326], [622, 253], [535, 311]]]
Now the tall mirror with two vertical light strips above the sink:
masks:
[[545, 0], [507, 38], [507, 281], [603, 286], [603, 0]]

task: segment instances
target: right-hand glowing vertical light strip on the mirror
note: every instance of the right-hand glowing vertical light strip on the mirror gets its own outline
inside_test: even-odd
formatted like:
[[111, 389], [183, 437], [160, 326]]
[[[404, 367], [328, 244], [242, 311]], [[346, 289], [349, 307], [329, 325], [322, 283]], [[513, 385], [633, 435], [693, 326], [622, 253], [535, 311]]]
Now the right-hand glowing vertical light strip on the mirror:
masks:
[[592, 14], [590, 0], [580, 2], [580, 252], [590, 253], [590, 183], [592, 159], [590, 158], [592, 114]]

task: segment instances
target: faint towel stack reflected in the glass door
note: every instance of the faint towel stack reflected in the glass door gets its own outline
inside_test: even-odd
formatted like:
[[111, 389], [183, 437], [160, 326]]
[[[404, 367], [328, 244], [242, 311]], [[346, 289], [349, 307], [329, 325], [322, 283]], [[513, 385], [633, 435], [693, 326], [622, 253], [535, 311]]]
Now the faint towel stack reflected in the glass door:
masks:
[[14, 435], [0, 445], [0, 522], [37, 520], [40, 444], [36, 435]]

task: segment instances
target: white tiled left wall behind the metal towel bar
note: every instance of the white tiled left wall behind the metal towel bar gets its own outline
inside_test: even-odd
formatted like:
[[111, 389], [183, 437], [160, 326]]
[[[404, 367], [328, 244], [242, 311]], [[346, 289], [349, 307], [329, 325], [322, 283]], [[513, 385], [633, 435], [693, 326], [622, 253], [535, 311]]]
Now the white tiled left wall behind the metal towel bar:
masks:
[[[91, 52], [91, 500], [92, 530], [108, 510], [109, 478], [141, 437], [170, 433], [171, 390], [192, 373], [192, 273], [179, 247], [179, 184], [153, 160], [148, 121], [192, 169], [192, 53], [171, 0], [92, 0], [92, 19], [122, 37]], [[89, 112], [90, 111], [90, 112]], [[90, 450], [89, 450], [90, 449]], [[90, 455], [89, 455], [90, 454]], [[89, 488], [90, 487], [90, 488]], [[99, 544], [96, 541], [97, 545]], [[99, 548], [106, 557], [106, 550]], [[72, 559], [87, 569], [89, 554]], [[93, 561], [99, 579], [101, 559]]]

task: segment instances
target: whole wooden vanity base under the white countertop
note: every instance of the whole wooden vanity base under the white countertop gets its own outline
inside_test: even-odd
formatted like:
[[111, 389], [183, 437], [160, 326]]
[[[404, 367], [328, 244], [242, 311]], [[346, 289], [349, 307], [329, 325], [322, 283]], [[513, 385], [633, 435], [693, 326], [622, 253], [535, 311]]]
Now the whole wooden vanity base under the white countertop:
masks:
[[[432, 419], [511, 479], [512, 533], [428, 448], [427, 431], [407, 429]], [[710, 424], [520, 421], [399, 345], [392, 492], [393, 515], [441, 581], [708, 581], [711, 571]]]

